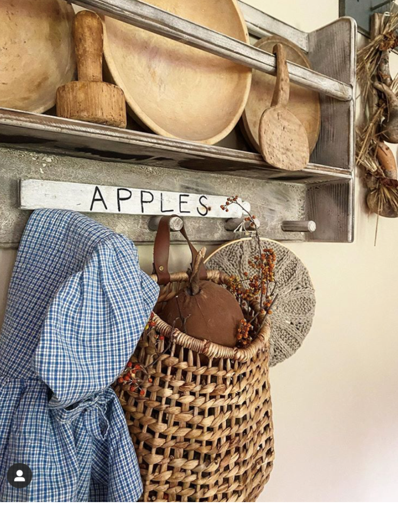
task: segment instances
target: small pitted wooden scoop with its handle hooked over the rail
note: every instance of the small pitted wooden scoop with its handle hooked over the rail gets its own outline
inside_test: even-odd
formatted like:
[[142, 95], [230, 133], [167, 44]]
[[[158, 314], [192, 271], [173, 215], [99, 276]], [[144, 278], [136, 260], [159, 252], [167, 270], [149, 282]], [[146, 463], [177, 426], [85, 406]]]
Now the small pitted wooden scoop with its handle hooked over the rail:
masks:
[[274, 46], [277, 80], [271, 107], [261, 116], [258, 140], [264, 160], [277, 168], [299, 171], [309, 161], [308, 138], [303, 124], [288, 109], [289, 71], [282, 44]]

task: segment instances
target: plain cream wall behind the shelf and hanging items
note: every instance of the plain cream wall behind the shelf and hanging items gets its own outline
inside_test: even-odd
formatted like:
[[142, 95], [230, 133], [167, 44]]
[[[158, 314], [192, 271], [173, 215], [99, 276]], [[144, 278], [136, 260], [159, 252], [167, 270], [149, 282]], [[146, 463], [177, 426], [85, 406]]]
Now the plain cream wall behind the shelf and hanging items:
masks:
[[[246, 2], [305, 31], [338, 17], [338, 0]], [[276, 458], [263, 501], [398, 499], [398, 220], [380, 219], [374, 246], [358, 177], [356, 193], [353, 244], [290, 244], [317, 310], [302, 348], [271, 371]], [[139, 249], [150, 270], [151, 248]], [[14, 260], [0, 251], [0, 321]], [[170, 260], [185, 269], [186, 249], [173, 246]]]

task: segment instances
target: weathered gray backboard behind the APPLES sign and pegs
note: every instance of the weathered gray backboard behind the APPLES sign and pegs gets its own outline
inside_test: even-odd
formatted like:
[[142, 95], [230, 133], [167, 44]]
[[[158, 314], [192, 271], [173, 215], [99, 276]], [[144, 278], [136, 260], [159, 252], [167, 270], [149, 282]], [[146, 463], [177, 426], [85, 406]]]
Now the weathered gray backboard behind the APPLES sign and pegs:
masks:
[[[303, 220], [305, 186], [197, 171], [137, 164], [89, 160], [70, 156], [0, 148], [0, 247], [18, 244], [30, 211], [19, 209], [18, 182], [21, 179], [71, 181], [106, 186], [146, 188], [206, 195], [239, 195], [248, 200], [259, 218], [262, 235], [279, 240], [306, 240], [303, 234], [283, 232], [284, 220]], [[137, 243], [152, 243], [148, 216], [91, 213], [90, 216]], [[226, 214], [226, 219], [229, 213]], [[187, 233], [199, 243], [222, 243], [236, 235], [224, 228], [220, 218], [185, 218]], [[172, 241], [180, 242], [179, 233]]]

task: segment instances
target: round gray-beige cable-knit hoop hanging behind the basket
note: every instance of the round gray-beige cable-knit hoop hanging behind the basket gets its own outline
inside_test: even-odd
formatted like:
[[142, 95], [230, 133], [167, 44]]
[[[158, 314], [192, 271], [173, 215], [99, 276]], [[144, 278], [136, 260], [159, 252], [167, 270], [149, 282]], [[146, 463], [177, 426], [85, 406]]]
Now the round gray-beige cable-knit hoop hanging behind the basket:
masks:
[[[293, 251], [283, 244], [261, 240], [261, 248], [273, 248], [276, 254], [270, 365], [276, 365], [295, 353], [311, 328], [315, 312], [315, 290], [308, 271]], [[258, 255], [256, 239], [233, 242], [217, 251], [207, 262], [207, 269], [218, 269], [243, 278], [253, 274], [248, 260]]]

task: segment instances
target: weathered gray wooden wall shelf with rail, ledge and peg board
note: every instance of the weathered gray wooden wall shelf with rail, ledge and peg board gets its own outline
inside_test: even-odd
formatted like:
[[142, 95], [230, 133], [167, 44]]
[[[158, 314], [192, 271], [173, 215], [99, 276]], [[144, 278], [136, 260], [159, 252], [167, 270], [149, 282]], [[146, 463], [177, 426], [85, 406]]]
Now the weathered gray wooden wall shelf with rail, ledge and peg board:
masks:
[[[246, 66], [275, 73], [275, 57], [226, 35], [196, 25], [139, 0], [78, 0], [75, 4], [140, 26], [182, 43], [209, 51]], [[311, 33], [297, 30], [243, 2], [239, 2], [252, 37], [278, 34], [289, 38], [307, 53], [314, 70], [289, 63], [292, 82], [317, 90], [321, 97], [322, 123], [317, 146], [307, 167], [298, 172], [280, 171], [268, 166], [262, 157], [250, 152], [236, 139], [226, 146], [169, 139], [137, 130], [108, 128], [103, 125], [67, 120], [49, 114], [34, 114], [0, 109], [0, 146], [2, 159], [0, 183], [2, 204], [0, 222], [10, 214], [6, 230], [0, 231], [0, 245], [15, 245], [27, 219], [15, 205], [17, 178], [33, 175], [35, 179], [55, 179], [71, 182], [130, 185], [150, 188], [148, 177], [155, 171], [167, 176], [163, 189], [171, 191], [207, 191], [210, 194], [239, 193], [250, 200], [259, 215], [261, 233], [280, 240], [338, 241], [353, 239], [353, 174], [355, 133], [355, 64], [356, 24], [350, 18], [335, 22]], [[239, 139], [239, 128], [235, 138]], [[236, 149], [239, 146], [240, 149]], [[73, 159], [84, 165], [81, 174], [58, 168], [52, 175], [18, 164], [12, 172], [7, 161], [20, 150], [30, 158], [40, 159], [40, 153], [71, 167]], [[37, 153], [37, 156], [34, 154]], [[21, 158], [20, 158], [21, 159]], [[29, 159], [25, 156], [25, 161]], [[93, 161], [98, 160], [99, 162]], [[30, 160], [31, 161], [31, 160]], [[33, 164], [34, 165], [34, 164]], [[99, 168], [101, 166], [101, 168]], [[125, 167], [125, 168], [121, 168]], [[106, 171], [114, 174], [112, 181]], [[83, 175], [85, 174], [85, 175]], [[89, 177], [90, 174], [90, 177]], [[251, 190], [255, 179], [256, 189]], [[211, 183], [211, 184], [209, 184]], [[146, 186], [145, 186], [146, 185]], [[275, 198], [273, 196], [275, 193]], [[264, 199], [269, 205], [264, 204]], [[258, 209], [264, 213], [260, 215]], [[120, 228], [121, 216], [100, 221], [130, 235], [137, 242], [151, 242], [153, 232], [147, 230], [143, 217], [129, 217]], [[18, 225], [13, 230], [12, 222]], [[314, 220], [314, 233], [285, 233], [284, 220]], [[192, 219], [193, 220], [193, 219]], [[189, 222], [189, 220], [188, 220]], [[139, 224], [135, 237], [131, 227]], [[208, 222], [206, 221], [206, 227]], [[189, 223], [193, 240], [206, 242], [200, 228], [201, 219]], [[203, 227], [202, 227], [203, 228]], [[144, 230], [145, 229], [145, 230]], [[15, 232], [16, 231], [16, 232]], [[222, 224], [207, 231], [211, 242], [234, 237]]]

